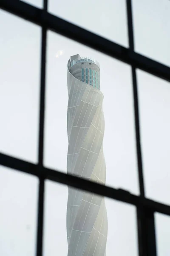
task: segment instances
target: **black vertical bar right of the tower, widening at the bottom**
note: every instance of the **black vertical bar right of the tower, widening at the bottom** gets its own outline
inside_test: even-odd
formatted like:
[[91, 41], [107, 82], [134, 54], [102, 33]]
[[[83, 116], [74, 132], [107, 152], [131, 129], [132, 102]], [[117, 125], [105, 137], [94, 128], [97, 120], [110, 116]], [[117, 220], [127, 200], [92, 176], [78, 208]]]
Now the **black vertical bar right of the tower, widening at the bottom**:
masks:
[[[133, 39], [133, 18], [131, 0], [126, 0], [127, 5], [127, 25], [129, 49], [134, 51]], [[140, 125], [139, 125], [139, 104], [136, 80], [136, 67], [132, 65], [132, 81], [133, 81], [133, 100], [135, 114], [135, 131], [136, 131], [136, 150], [138, 160], [138, 176], [140, 195], [144, 197], [144, 179], [142, 170], [142, 153], [140, 143]], [[139, 256], [156, 256], [156, 238], [155, 238], [155, 223], [154, 212], [144, 207], [137, 207], [137, 224], [138, 224], [138, 246]]]

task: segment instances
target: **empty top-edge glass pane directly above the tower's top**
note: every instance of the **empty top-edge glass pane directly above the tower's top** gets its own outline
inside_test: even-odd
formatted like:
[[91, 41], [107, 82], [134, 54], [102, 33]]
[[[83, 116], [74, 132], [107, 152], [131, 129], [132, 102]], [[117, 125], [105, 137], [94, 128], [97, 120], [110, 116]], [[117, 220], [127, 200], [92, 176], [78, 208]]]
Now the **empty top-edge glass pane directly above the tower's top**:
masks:
[[48, 11], [71, 23], [128, 47], [126, 1], [49, 0]]

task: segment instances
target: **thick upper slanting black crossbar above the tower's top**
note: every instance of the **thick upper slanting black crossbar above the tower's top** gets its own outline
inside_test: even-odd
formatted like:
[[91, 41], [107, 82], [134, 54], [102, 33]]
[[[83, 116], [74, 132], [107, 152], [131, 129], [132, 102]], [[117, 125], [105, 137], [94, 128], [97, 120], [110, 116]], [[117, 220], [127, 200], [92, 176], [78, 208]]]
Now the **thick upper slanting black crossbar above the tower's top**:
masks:
[[124, 61], [136, 68], [170, 81], [170, 67], [144, 57], [131, 49], [122, 47], [68, 21], [62, 20], [57, 16], [51, 15], [43, 9], [31, 6], [20, 0], [0, 0], [0, 8], [40, 26], [45, 26], [47, 29], [85, 44], [113, 58], [117, 58], [120, 61]]

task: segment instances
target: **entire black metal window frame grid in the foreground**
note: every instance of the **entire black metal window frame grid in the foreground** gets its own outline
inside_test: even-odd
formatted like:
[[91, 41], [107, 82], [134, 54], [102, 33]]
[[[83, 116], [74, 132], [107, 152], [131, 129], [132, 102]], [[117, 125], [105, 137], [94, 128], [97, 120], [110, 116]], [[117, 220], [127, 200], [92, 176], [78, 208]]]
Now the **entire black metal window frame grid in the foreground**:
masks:
[[[133, 204], [137, 209], [138, 223], [138, 247], [139, 256], [156, 256], [156, 239], [154, 212], [170, 215], [170, 206], [161, 204], [145, 198], [144, 180], [142, 171], [142, 154], [140, 145], [140, 125], [139, 125], [139, 106], [136, 81], [136, 68], [144, 70], [155, 76], [170, 81], [170, 68], [160, 64], [150, 58], [144, 57], [134, 52], [133, 41], [133, 16], [131, 0], [126, 0], [127, 4], [127, 23], [129, 48], [115, 44], [99, 35], [95, 35], [72, 23], [62, 20], [59, 17], [47, 12], [48, 0], [43, 0], [43, 9], [38, 9], [20, 0], [0, 0], [0, 8], [22, 17], [30, 22], [42, 27], [41, 40], [41, 89], [40, 89], [40, 125], [39, 125], [39, 157], [38, 164], [28, 163], [6, 154], [0, 153], [0, 165], [35, 175], [39, 178], [39, 198], [38, 198], [38, 224], [37, 224], [37, 256], [42, 256], [42, 236], [43, 236], [43, 204], [44, 204], [44, 183], [45, 180], [53, 180], [66, 185], [84, 189], [112, 199]], [[138, 175], [140, 195], [130, 194], [123, 189], [114, 189], [103, 186], [89, 180], [67, 175], [59, 171], [54, 171], [43, 166], [43, 145], [44, 145], [44, 110], [45, 110], [45, 57], [46, 57], [46, 38], [47, 30], [74, 39], [93, 49], [99, 50], [113, 58], [121, 60], [131, 65], [133, 78], [133, 99], [136, 128], [136, 149], [138, 160]]]

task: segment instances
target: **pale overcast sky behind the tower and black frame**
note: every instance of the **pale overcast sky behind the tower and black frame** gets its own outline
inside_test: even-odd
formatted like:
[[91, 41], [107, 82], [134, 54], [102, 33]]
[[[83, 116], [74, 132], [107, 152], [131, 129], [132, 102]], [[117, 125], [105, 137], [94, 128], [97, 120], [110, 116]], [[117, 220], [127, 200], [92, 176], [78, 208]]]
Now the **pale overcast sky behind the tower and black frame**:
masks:
[[[42, 1], [28, 3], [42, 7]], [[135, 49], [170, 66], [170, 1], [133, 0]], [[66, 8], [67, 6], [67, 8]], [[128, 47], [125, 0], [49, 0], [49, 12]], [[41, 29], [0, 11], [0, 152], [37, 163]], [[62, 55], [59, 55], [62, 51]], [[129, 65], [48, 32], [44, 165], [66, 172], [67, 62], [95, 58], [104, 94], [106, 184], [139, 195]], [[170, 84], [137, 70], [145, 192], [170, 204]], [[0, 255], [34, 256], [38, 179], [0, 167]], [[45, 183], [44, 256], [67, 255], [67, 186]], [[136, 256], [136, 209], [108, 198], [107, 256]], [[156, 214], [158, 256], [170, 217]]]

